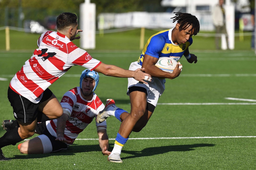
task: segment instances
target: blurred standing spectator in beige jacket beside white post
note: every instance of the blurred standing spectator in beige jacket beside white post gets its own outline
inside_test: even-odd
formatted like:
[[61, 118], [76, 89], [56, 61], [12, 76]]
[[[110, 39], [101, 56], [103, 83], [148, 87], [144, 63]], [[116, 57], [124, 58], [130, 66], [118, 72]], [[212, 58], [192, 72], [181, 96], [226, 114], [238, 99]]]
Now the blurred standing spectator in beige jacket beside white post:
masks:
[[228, 47], [228, 34], [226, 30], [225, 9], [223, 7], [223, 3], [224, 3], [224, 0], [219, 0], [219, 4], [217, 4], [214, 7], [212, 12], [213, 24], [216, 30], [216, 36], [215, 36], [216, 49], [220, 49], [219, 41], [220, 41], [221, 34], [225, 34], [227, 47]]

